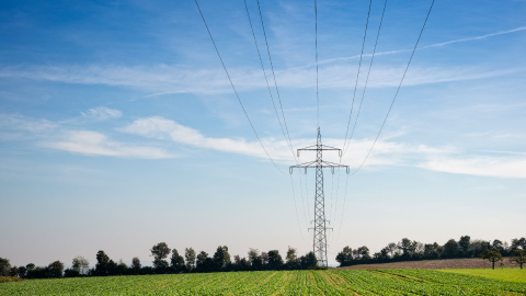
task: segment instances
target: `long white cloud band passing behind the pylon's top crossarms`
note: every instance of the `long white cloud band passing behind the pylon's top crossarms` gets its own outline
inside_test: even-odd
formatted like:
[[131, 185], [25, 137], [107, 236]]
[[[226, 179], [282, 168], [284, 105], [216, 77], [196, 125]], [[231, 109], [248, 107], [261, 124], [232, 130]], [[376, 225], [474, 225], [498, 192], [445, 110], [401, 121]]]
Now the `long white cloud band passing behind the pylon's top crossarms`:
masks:
[[[160, 116], [139, 118], [119, 129], [124, 133], [140, 135], [149, 138], [165, 139], [203, 149], [248, 155], [266, 158], [258, 141], [247, 141], [243, 138], [210, 138], [201, 132], [183, 126], [174, 121]], [[263, 138], [271, 157], [283, 164], [294, 164], [293, 156], [284, 140]], [[352, 169], [362, 164], [369, 151], [374, 139], [353, 139], [342, 163]], [[342, 147], [342, 139], [324, 139], [324, 143]], [[295, 148], [312, 145], [312, 139], [295, 139]], [[309, 161], [312, 155], [304, 153], [300, 162]], [[339, 162], [338, 153], [325, 155], [325, 160]], [[503, 156], [472, 156], [455, 147], [431, 147], [426, 145], [411, 145], [393, 140], [379, 140], [373, 153], [364, 166], [364, 170], [382, 167], [416, 167], [431, 171], [487, 175], [496, 178], [526, 178], [526, 158], [517, 155], [514, 158]]]

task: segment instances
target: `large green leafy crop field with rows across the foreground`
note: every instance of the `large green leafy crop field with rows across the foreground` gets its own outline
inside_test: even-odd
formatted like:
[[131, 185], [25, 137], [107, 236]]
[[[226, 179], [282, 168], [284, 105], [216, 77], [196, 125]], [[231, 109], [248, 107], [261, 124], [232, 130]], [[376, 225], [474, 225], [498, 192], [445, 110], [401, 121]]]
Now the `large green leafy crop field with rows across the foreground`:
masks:
[[526, 295], [526, 284], [430, 270], [263, 271], [31, 280], [0, 295]]

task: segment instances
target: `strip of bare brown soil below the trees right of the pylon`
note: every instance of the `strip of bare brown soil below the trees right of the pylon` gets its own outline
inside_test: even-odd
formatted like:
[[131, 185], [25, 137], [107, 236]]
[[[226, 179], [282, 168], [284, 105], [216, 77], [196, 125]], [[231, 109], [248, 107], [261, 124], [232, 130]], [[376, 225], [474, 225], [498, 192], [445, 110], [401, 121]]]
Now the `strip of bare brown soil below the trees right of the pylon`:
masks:
[[[495, 262], [498, 267], [516, 267], [515, 263], [511, 263], [508, 258], [504, 258], [501, 262]], [[443, 260], [423, 260], [423, 261], [404, 261], [382, 264], [362, 264], [345, 267], [336, 267], [336, 270], [381, 270], [381, 269], [422, 269], [422, 270], [442, 270], [442, 269], [491, 269], [492, 263], [480, 258], [466, 259], [443, 259]]]

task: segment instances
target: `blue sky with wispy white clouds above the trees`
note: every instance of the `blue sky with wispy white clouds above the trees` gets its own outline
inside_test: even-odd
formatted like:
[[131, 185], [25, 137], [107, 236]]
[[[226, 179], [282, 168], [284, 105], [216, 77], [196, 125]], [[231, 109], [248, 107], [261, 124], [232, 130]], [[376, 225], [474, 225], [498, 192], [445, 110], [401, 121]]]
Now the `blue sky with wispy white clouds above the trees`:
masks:
[[431, 1], [385, 3], [317, 1], [317, 53], [313, 1], [199, 0], [227, 76], [194, 1], [1, 1], [0, 257], [305, 254], [318, 127], [330, 264], [526, 236], [526, 1], [437, 0], [405, 76]]

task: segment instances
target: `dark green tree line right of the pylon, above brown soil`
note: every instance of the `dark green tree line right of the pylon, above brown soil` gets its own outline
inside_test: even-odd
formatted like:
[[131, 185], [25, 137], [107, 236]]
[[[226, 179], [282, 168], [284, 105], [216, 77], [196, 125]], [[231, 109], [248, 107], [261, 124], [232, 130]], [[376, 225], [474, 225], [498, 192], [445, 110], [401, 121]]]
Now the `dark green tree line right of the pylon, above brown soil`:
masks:
[[[343, 248], [336, 255], [340, 266], [356, 264], [388, 263], [400, 261], [454, 259], [454, 258], [484, 258], [489, 251], [494, 252], [493, 258], [499, 253], [502, 257], [510, 257], [523, 267], [526, 250], [526, 238], [513, 239], [512, 243], [502, 242], [499, 239], [493, 241], [471, 240], [469, 236], [462, 236], [457, 241], [449, 239], [444, 244], [422, 243], [415, 240], [403, 238], [398, 243], [390, 242], [379, 252], [370, 254], [366, 246], [352, 249], [348, 246]], [[490, 260], [491, 261], [491, 260]], [[494, 263], [494, 261], [493, 261]]]

